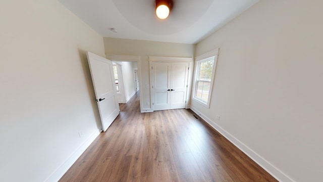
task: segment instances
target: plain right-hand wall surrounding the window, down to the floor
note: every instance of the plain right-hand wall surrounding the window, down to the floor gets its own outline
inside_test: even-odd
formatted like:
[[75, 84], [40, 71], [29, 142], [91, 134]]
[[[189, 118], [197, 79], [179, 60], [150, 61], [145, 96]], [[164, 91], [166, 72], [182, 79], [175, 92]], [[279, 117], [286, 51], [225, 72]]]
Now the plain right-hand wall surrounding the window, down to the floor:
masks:
[[192, 108], [282, 181], [321, 181], [321, 7], [260, 1], [196, 46], [220, 52], [210, 108]]

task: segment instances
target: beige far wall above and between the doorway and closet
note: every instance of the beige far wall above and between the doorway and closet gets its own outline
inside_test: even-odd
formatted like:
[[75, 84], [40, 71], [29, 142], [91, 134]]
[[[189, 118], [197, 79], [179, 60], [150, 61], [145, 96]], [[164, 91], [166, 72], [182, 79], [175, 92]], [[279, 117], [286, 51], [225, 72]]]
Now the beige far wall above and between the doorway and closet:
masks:
[[[194, 45], [182, 43], [167, 43], [145, 40], [130, 40], [104, 37], [106, 55], [131, 55], [140, 56], [140, 96], [141, 111], [151, 111], [149, 84], [149, 59], [148, 56], [162, 57], [193, 57]], [[146, 103], [149, 105], [146, 105]]]

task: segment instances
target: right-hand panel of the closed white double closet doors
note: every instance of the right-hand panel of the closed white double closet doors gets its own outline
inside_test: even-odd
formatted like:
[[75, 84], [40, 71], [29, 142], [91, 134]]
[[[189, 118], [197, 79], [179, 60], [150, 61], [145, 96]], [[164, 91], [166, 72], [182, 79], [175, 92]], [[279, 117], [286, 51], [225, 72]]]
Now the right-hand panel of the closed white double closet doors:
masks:
[[189, 64], [172, 63], [171, 66], [170, 109], [185, 108]]

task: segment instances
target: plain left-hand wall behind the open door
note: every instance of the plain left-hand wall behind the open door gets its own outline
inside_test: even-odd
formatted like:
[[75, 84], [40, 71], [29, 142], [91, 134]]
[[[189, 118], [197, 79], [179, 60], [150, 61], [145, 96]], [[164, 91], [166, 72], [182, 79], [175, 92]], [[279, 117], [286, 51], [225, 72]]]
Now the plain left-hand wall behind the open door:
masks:
[[0, 9], [0, 181], [55, 181], [99, 133], [85, 51], [103, 38], [57, 1]]

